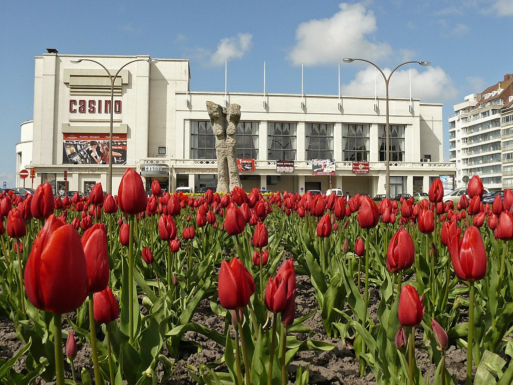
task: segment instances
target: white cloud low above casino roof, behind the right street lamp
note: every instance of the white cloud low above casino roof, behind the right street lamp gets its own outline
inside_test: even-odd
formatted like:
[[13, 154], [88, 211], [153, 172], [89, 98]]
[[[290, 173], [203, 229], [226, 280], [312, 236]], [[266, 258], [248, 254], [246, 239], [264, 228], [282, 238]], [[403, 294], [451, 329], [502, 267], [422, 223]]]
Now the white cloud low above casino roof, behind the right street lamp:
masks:
[[[411, 97], [420, 98], [424, 102], [445, 102], [458, 97], [458, 90], [453, 86], [451, 79], [440, 67], [427, 67], [417, 69], [415, 63], [411, 64]], [[409, 98], [409, 71], [398, 69], [390, 78], [389, 95], [394, 98]], [[391, 69], [383, 69], [388, 77]], [[385, 97], [385, 81], [376, 70], [376, 90], [378, 97]], [[342, 88], [344, 95], [374, 96], [374, 68], [364, 69], [356, 74], [356, 78]]]

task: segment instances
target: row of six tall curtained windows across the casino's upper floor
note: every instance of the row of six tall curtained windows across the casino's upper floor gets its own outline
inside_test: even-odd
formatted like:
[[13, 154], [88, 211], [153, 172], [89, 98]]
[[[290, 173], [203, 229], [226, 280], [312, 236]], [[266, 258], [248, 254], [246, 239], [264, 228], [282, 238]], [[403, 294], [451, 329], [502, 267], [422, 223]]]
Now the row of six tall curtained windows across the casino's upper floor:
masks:
[[[191, 157], [215, 159], [215, 138], [210, 121], [191, 121]], [[276, 122], [267, 125], [267, 159], [295, 160], [297, 155], [297, 123]], [[404, 159], [405, 126], [390, 125], [390, 161]], [[344, 161], [368, 161], [370, 125], [342, 125]], [[258, 122], [240, 122], [237, 126], [237, 157], [258, 158]], [[379, 160], [386, 159], [386, 126], [378, 126]], [[305, 132], [306, 159], [333, 158], [333, 124], [307, 123]]]

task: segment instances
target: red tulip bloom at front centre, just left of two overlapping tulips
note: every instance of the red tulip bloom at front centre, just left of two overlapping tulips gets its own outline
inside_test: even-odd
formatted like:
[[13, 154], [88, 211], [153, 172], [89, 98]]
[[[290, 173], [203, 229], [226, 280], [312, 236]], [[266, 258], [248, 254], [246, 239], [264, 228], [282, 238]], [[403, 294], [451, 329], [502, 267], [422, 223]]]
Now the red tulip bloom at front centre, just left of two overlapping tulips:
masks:
[[255, 291], [253, 277], [241, 261], [223, 260], [218, 280], [219, 302], [227, 310], [236, 310], [248, 304]]

